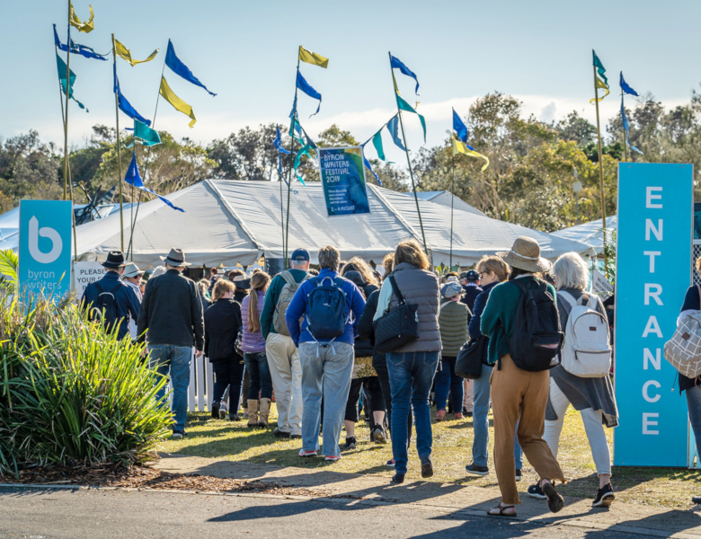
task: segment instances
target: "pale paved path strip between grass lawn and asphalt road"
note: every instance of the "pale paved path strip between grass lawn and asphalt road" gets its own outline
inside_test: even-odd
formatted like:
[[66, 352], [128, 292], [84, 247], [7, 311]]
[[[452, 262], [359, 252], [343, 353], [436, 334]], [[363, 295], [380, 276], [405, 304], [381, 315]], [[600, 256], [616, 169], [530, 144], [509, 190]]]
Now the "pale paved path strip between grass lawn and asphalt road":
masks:
[[[250, 464], [182, 455], [162, 455], [156, 467], [173, 473], [199, 473], [215, 477], [258, 479], [283, 485], [319, 489], [324, 495], [359, 501], [409, 506], [439, 511], [448, 515], [484, 515], [500, 499], [498, 488], [470, 487], [435, 482], [405, 482], [390, 485], [384, 476], [373, 474], [336, 473], [333, 464], [322, 469], [282, 467], [273, 464]], [[528, 485], [520, 483], [522, 491]], [[520, 520], [583, 526], [608, 533], [631, 532], [652, 536], [701, 538], [701, 515], [697, 512], [669, 508], [653, 508], [638, 504], [616, 502], [610, 509], [591, 508], [590, 499], [565, 498], [566, 507], [553, 515], [544, 501], [521, 495], [518, 506]]]

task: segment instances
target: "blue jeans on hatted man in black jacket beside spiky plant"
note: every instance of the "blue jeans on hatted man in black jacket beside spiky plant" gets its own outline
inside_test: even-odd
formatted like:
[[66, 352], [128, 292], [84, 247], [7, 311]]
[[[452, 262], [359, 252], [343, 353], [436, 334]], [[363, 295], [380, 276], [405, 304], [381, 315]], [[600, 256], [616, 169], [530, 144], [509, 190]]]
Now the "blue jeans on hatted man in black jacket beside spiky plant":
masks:
[[[174, 346], [173, 344], [149, 344], [148, 367], [155, 368], [156, 372], [170, 376], [173, 384], [173, 430], [185, 430], [185, 420], [188, 417], [188, 386], [190, 385], [190, 362], [192, 348], [189, 346]], [[164, 396], [165, 388], [157, 394], [157, 398]]]

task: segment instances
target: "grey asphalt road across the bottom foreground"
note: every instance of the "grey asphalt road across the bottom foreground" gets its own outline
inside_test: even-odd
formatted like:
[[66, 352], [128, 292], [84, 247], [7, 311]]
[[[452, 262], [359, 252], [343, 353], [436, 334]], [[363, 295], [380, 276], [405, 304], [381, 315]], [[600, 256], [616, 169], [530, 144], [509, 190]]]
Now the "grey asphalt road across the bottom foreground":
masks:
[[312, 537], [630, 539], [649, 537], [356, 500], [125, 490], [0, 488], [0, 539]]

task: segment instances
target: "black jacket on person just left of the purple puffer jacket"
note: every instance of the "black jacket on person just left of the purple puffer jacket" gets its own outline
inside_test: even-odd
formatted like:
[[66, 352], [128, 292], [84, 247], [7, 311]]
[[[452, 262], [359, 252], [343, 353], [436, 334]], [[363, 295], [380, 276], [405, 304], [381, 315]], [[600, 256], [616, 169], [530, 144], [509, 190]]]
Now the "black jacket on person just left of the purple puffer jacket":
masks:
[[241, 361], [234, 346], [240, 328], [241, 305], [233, 299], [220, 299], [205, 311], [204, 352], [209, 361]]

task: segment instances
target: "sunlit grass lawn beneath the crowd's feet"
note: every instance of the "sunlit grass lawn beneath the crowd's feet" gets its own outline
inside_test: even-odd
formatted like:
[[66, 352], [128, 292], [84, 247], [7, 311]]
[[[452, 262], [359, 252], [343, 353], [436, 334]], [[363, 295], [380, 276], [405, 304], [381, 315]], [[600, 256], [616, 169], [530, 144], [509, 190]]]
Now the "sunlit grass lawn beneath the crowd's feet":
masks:
[[[434, 412], [435, 413], [435, 412]], [[452, 418], [452, 415], [448, 415]], [[207, 413], [192, 413], [188, 417], [188, 436], [182, 440], [166, 439], [159, 450], [182, 455], [205, 456], [221, 460], [278, 464], [297, 468], [321, 469], [329, 465], [322, 459], [302, 459], [297, 452], [301, 440], [280, 441], [272, 436], [276, 420], [272, 405], [270, 429], [247, 429], [245, 420], [231, 422], [212, 420]], [[609, 445], [613, 431], [606, 429]], [[492, 432], [490, 433], [492, 434]], [[343, 436], [345, 434], [343, 433]], [[356, 425], [358, 448], [343, 452], [343, 458], [333, 464], [334, 472], [374, 473], [386, 477], [393, 470], [385, 464], [392, 458], [390, 444], [379, 445], [369, 441], [369, 429], [364, 421]], [[497, 486], [493, 472], [492, 439], [490, 462], [492, 473], [486, 477], [468, 475], [465, 465], [472, 462], [472, 420], [447, 420], [433, 425], [434, 475], [429, 481], [471, 486]], [[593, 498], [599, 486], [596, 469], [579, 412], [572, 407], [564, 421], [560, 440], [560, 465], [567, 484], [558, 487], [565, 496]], [[525, 492], [537, 476], [524, 457], [524, 478], [519, 490]], [[617, 499], [667, 508], [689, 508], [692, 495], [701, 494], [701, 475], [698, 472], [678, 468], [614, 468], [613, 485]], [[415, 446], [409, 450], [407, 479], [421, 479], [420, 464]]]

